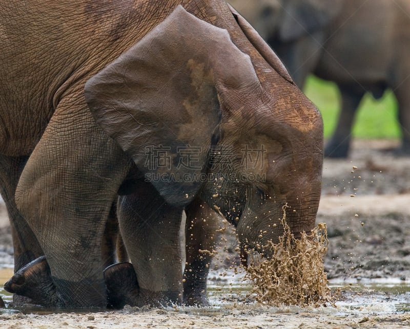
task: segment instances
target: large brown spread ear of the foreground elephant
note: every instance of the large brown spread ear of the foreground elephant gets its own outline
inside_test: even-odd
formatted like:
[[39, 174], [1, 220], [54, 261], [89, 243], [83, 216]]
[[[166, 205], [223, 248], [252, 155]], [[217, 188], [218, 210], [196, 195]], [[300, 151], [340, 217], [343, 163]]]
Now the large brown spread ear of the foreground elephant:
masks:
[[[183, 206], [199, 190], [219, 138], [218, 86], [258, 84], [227, 30], [181, 6], [85, 85], [97, 124], [165, 200]], [[201, 183], [202, 182], [202, 183]]]

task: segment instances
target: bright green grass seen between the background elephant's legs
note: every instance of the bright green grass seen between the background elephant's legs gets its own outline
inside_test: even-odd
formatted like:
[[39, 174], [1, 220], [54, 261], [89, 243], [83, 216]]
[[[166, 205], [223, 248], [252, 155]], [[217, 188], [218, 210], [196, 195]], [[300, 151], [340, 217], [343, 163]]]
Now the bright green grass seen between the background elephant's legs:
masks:
[[[310, 76], [304, 93], [319, 108], [323, 117], [324, 138], [329, 138], [336, 127], [340, 111], [340, 94], [332, 82]], [[356, 112], [353, 137], [362, 139], [397, 139], [401, 132], [397, 122], [397, 101], [391, 90], [380, 100], [366, 94]]]

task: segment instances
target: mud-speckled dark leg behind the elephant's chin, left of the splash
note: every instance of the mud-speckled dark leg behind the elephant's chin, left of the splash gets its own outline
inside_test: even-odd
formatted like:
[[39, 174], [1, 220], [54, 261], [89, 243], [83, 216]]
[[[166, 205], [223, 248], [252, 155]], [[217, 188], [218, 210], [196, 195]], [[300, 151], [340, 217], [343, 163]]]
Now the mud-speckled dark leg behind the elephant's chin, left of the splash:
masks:
[[187, 222], [183, 302], [187, 305], [207, 305], [207, 278], [216, 246], [220, 218], [199, 199], [188, 205], [185, 213]]

